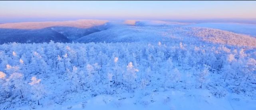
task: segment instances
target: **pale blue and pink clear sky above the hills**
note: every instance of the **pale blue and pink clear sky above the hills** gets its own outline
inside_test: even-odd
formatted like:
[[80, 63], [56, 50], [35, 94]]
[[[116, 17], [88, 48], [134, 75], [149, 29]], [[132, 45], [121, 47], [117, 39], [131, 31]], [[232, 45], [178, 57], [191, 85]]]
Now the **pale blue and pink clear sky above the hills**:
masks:
[[0, 22], [256, 19], [256, 1], [0, 1]]

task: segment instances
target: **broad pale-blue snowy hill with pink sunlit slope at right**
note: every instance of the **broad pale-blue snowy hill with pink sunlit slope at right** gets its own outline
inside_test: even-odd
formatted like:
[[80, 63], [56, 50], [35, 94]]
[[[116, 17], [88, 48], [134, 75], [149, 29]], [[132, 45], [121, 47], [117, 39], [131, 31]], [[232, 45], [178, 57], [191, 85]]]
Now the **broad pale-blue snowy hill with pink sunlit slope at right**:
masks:
[[256, 38], [219, 29], [169, 26], [122, 26], [92, 33], [76, 42], [152, 42], [175, 39], [256, 47]]

